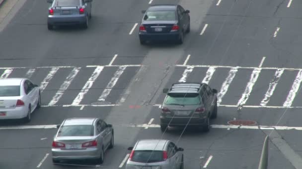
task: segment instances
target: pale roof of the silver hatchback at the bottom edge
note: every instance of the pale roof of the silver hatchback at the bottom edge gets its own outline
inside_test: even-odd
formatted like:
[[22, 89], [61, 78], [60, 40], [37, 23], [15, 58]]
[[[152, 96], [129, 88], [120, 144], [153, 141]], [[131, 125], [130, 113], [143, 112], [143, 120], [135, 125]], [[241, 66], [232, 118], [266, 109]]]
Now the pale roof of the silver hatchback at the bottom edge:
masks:
[[139, 140], [134, 150], [163, 150], [168, 140], [143, 139]]

